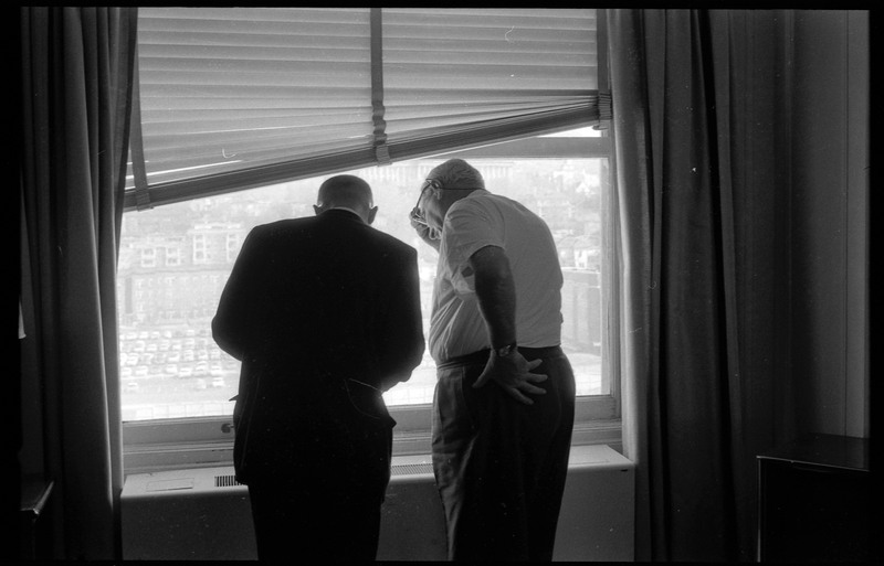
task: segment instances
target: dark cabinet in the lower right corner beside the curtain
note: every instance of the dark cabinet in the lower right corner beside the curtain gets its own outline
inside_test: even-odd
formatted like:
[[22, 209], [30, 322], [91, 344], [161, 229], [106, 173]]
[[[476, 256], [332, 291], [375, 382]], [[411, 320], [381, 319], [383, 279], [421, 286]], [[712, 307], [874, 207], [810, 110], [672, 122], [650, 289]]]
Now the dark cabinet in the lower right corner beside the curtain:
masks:
[[813, 435], [758, 456], [760, 562], [872, 557], [869, 440]]

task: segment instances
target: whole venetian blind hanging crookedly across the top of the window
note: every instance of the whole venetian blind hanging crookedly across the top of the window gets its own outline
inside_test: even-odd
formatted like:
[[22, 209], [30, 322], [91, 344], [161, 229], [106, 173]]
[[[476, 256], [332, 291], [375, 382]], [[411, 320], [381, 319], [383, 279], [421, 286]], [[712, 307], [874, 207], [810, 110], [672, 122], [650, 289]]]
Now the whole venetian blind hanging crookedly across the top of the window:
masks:
[[139, 8], [126, 209], [598, 124], [596, 47], [594, 10]]

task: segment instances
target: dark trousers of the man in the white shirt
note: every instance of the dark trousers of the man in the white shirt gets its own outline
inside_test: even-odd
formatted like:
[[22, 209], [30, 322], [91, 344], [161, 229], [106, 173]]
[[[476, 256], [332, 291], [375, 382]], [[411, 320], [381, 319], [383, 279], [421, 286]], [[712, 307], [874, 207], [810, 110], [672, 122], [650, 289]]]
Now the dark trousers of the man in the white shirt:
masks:
[[575, 380], [559, 348], [522, 349], [548, 378], [523, 405], [491, 382], [475, 389], [487, 353], [440, 365], [433, 469], [445, 510], [449, 559], [551, 560], [568, 472]]

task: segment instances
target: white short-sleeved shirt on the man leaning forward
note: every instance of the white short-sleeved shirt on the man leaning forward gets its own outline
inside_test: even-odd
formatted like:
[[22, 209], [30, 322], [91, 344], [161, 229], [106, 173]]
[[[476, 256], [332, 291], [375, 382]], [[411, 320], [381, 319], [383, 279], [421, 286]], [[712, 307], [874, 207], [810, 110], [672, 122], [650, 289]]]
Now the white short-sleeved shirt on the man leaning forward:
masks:
[[491, 346], [475, 277], [463, 275], [470, 256], [487, 245], [502, 247], [509, 259], [518, 345], [561, 342], [562, 276], [549, 227], [520, 203], [480, 190], [455, 202], [442, 225], [428, 341], [436, 363]]

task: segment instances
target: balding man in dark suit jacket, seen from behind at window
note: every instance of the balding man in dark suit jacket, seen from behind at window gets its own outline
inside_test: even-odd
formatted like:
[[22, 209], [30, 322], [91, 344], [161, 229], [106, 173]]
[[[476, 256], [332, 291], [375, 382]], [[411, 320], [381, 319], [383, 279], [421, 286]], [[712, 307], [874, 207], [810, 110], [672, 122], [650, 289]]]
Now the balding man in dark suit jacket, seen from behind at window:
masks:
[[357, 177], [324, 182], [314, 210], [252, 229], [212, 321], [242, 361], [234, 467], [259, 558], [375, 559], [396, 424], [381, 393], [424, 349], [417, 252], [370, 226]]

